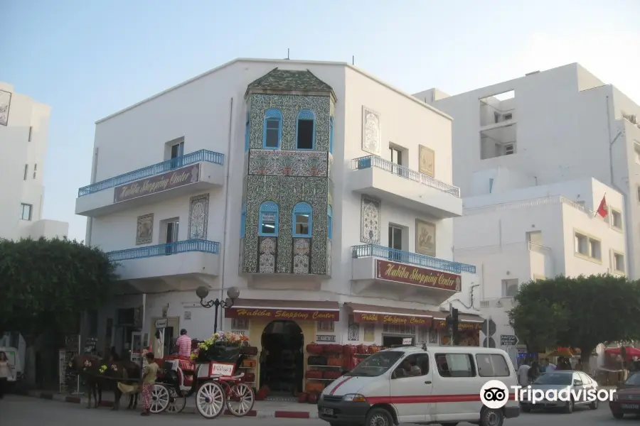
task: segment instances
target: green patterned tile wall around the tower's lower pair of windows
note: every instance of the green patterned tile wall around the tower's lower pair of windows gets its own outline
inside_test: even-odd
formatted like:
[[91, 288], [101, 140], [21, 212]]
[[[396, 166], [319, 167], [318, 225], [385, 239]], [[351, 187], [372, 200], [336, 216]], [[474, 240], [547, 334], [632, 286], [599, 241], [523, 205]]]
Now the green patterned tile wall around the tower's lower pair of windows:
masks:
[[326, 205], [329, 199], [329, 180], [321, 177], [277, 175], [249, 175], [247, 178], [247, 219], [245, 227], [245, 256], [242, 272], [258, 271], [258, 215], [260, 204], [278, 204], [277, 273], [292, 273], [292, 212], [299, 202], [307, 202], [314, 209], [311, 229], [310, 273], [326, 273]]

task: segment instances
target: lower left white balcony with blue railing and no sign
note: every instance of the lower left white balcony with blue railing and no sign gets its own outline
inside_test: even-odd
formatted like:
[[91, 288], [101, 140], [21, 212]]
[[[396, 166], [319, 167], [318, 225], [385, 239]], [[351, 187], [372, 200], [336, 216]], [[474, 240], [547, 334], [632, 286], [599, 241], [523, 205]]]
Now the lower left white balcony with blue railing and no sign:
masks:
[[186, 240], [156, 246], [110, 251], [117, 263], [119, 280], [129, 281], [144, 293], [193, 290], [200, 285], [214, 288], [218, 277], [220, 244]]

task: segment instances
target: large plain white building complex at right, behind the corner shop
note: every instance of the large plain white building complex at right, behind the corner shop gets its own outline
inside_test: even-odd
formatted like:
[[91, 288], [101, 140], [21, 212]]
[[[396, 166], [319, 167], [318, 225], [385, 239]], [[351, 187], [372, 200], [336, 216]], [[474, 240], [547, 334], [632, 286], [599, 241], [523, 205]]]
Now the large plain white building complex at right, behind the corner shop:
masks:
[[[637, 104], [578, 64], [415, 97], [454, 119], [453, 182], [465, 196], [455, 259], [479, 268], [494, 337], [513, 334], [504, 298], [521, 283], [559, 274], [640, 278]], [[594, 211], [605, 194], [602, 219]]]

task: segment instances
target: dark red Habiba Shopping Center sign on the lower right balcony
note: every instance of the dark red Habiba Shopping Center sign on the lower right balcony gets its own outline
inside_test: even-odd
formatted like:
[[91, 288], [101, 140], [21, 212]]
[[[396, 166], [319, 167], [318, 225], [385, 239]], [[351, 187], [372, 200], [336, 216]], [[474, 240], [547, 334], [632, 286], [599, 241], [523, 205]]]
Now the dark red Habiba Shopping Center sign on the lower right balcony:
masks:
[[439, 288], [441, 290], [462, 290], [462, 277], [454, 273], [390, 261], [376, 261], [375, 266], [378, 280], [396, 281], [398, 283]]

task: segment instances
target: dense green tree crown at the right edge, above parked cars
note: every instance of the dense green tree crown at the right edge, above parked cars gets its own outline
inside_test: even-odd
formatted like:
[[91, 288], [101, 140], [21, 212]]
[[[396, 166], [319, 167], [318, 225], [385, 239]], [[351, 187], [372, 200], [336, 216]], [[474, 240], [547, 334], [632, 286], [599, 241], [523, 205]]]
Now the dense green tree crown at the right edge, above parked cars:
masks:
[[583, 354], [602, 342], [640, 337], [640, 285], [614, 275], [559, 276], [523, 285], [509, 312], [521, 342]]

